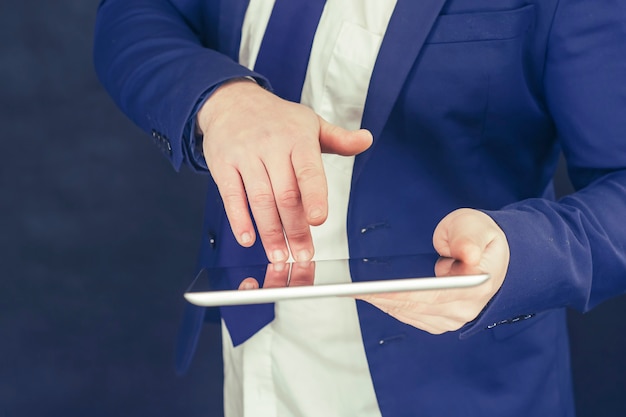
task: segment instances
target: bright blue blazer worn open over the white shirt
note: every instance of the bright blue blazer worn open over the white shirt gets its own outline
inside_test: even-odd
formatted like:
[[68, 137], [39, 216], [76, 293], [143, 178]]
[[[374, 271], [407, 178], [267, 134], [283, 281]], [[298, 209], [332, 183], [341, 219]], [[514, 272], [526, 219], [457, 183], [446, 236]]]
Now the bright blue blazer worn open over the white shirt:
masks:
[[[207, 91], [240, 76], [271, 86], [236, 63], [246, 6], [101, 4], [100, 79], [177, 169]], [[511, 260], [458, 332], [359, 303], [383, 416], [574, 414], [564, 308], [626, 291], [625, 21], [621, 0], [398, 0], [363, 116], [375, 141], [355, 161], [350, 254], [432, 251], [437, 222], [473, 207], [504, 230]], [[577, 192], [556, 202], [560, 151]], [[236, 244], [213, 184], [202, 233], [202, 266], [265, 260]]]

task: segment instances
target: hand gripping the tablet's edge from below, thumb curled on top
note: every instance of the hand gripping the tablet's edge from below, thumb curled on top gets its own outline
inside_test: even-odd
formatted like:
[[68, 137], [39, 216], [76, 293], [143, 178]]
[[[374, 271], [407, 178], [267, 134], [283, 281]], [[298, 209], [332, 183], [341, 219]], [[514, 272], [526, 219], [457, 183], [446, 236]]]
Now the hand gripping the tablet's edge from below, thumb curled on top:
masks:
[[437, 276], [464, 269], [486, 272], [483, 284], [463, 289], [365, 295], [365, 300], [398, 320], [429, 333], [460, 329], [474, 320], [498, 292], [509, 264], [509, 245], [500, 227], [486, 214], [459, 209], [435, 229], [433, 245], [445, 257], [435, 265]]

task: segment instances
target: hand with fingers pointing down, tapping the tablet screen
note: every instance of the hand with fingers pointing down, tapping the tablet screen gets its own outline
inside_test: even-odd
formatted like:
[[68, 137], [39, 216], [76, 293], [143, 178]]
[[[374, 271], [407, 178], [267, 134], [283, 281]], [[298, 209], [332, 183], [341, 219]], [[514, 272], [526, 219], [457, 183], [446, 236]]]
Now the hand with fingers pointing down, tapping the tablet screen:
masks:
[[248, 247], [256, 239], [249, 205], [271, 262], [286, 261], [289, 249], [295, 260], [310, 260], [309, 226], [328, 214], [321, 152], [358, 154], [371, 134], [331, 125], [249, 80], [221, 86], [200, 109], [198, 125], [237, 241]]

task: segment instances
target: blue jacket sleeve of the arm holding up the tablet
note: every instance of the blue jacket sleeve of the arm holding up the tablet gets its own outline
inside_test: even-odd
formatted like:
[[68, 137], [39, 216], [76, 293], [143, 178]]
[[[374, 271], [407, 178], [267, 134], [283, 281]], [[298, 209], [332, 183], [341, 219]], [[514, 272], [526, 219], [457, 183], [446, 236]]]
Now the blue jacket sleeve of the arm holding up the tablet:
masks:
[[504, 230], [505, 282], [464, 335], [626, 292], [626, 5], [561, 0], [544, 78], [576, 192], [488, 214]]

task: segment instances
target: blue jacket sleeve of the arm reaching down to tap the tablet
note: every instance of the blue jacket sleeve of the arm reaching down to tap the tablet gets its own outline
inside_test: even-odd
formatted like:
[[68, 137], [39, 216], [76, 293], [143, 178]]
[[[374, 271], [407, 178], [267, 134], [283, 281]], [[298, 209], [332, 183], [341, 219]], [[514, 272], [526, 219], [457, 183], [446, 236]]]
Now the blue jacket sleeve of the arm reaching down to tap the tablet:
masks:
[[[121, 110], [169, 158], [190, 161], [190, 118], [226, 80], [265, 80], [217, 51], [219, 8], [211, 1], [104, 0], [94, 38], [98, 77]], [[215, 16], [207, 10], [216, 9]], [[210, 27], [209, 27], [210, 26]], [[213, 35], [211, 35], [213, 34]]]

